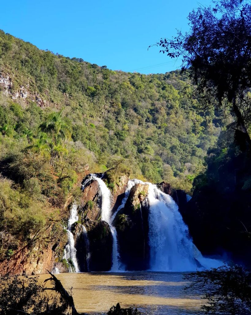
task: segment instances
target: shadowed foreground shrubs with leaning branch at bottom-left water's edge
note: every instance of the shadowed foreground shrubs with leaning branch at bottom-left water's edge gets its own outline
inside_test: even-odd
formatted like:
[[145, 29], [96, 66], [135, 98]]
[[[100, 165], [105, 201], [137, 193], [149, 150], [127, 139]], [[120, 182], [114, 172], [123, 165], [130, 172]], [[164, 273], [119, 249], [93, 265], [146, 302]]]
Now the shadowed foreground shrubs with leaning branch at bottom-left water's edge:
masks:
[[[0, 314], [76, 315], [72, 296], [51, 274], [52, 288], [40, 283], [37, 277], [2, 276], [0, 278]], [[48, 293], [51, 290], [53, 293]]]

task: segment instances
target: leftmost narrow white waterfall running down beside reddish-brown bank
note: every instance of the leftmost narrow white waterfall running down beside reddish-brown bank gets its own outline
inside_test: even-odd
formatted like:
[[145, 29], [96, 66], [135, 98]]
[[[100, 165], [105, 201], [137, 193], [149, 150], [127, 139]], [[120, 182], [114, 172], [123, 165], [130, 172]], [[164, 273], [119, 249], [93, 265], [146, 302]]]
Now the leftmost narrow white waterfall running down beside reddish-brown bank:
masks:
[[79, 268], [78, 268], [78, 264], [77, 264], [77, 257], [76, 257], [77, 251], [75, 249], [74, 237], [73, 237], [73, 234], [71, 232], [72, 225], [77, 220], [78, 220], [77, 204], [73, 203], [73, 205], [71, 207], [70, 217], [69, 217], [69, 220], [68, 220], [67, 230], [66, 230], [67, 234], [68, 234], [68, 243], [67, 243], [67, 245], [65, 247], [64, 256], [63, 256], [63, 258], [66, 259], [67, 262], [69, 260], [71, 260], [72, 265], [74, 267], [74, 269], [72, 269], [72, 265], [70, 264], [69, 272], [79, 272]]

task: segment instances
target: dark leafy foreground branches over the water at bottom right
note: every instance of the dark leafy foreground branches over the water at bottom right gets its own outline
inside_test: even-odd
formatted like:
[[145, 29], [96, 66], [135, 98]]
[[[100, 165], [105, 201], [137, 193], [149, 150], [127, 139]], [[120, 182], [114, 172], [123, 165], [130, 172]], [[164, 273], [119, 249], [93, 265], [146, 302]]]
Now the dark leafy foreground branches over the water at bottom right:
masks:
[[185, 275], [203, 292], [206, 314], [249, 315], [251, 312], [251, 272], [241, 266], [222, 266]]

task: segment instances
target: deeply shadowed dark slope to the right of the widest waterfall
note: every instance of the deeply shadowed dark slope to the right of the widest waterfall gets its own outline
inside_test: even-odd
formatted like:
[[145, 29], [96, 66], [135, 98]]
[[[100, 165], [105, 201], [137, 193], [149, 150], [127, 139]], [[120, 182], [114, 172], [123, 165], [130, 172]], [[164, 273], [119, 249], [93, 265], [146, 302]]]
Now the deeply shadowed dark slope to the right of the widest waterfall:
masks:
[[205, 172], [195, 177], [193, 198], [182, 212], [195, 245], [205, 255], [226, 255], [251, 265], [251, 166], [248, 150], [221, 133], [208, 151]]

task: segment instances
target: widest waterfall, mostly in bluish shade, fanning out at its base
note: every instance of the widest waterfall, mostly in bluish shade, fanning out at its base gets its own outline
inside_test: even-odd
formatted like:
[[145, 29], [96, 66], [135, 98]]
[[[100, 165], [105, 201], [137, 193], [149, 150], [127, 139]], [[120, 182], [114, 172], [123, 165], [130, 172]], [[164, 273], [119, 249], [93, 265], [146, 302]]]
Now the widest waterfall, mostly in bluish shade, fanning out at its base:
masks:
[[173, 198], [147, 183], [150, 266], [153, 271], [195, 271], [222, 265], [204, 258], [189, 236]]

